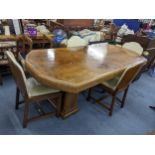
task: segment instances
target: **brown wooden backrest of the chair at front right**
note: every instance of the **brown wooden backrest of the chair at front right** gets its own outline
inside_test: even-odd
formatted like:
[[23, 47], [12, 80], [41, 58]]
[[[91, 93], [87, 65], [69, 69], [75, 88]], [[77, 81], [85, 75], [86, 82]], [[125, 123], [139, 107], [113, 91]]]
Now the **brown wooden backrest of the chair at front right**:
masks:
[[145, 63], [143, 62], [127, 67], [125, 71], [122, 73], [116, 85], [116, 90], [124, 90], [125, 88], [127, 88], [129, 84], [134, 80], [136, 75], [140, 72], [144, 64]]

